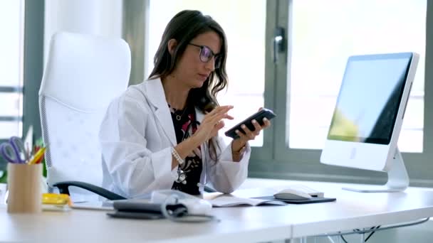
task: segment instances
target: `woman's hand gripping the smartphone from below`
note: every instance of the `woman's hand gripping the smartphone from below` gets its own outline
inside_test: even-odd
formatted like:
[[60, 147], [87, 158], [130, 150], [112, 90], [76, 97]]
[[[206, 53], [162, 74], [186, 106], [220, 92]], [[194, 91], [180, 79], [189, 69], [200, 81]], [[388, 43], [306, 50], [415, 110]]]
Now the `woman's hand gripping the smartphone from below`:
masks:
[[[259, 111], [262, 108], [259, 109]], [[234, 139], [233, 142], [231, 143], [231, 151], [238, 152], [241, 151], [242, 148], [244, 148], [244, 146], [246, 145], [246, 142], [248, 142], [249, 140], [254, 140], [256, 139], [256, 136], [258, 136], [260, 134], [260, 131], [263, 129], [266, 129], [266, 127], [271, 126], [271, 121], [269, 121], [268, 119], [266, 119], [266, 117], [263, 119], [263, 126], [260, 126], [259, 122], [257, 122], [255, 119], [251, 121], [254, 125], [254, 131], [251, 131], [250, 129], [248, 129], [247, 126], [245, 126], [245, 124], [241, 125], [242, 130], [244, 130], [244, 132], [236, 130], [234, 132], [236, 132], [236, 134], [239, 136], [238, 139]]]

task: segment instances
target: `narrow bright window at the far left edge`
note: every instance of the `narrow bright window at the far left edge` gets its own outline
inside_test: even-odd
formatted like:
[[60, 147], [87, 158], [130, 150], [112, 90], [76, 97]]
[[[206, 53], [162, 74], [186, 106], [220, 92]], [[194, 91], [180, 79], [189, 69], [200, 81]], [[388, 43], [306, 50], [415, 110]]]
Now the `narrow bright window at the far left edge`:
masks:
[[22, 136], [24, 1], [0, 1], [0, 139]]

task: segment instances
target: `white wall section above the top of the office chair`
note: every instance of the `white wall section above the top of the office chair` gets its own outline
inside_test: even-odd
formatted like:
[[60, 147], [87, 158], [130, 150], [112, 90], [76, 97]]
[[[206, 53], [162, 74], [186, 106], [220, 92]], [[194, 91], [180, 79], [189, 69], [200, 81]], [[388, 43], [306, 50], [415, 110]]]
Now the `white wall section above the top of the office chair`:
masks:
[[122, 0], [46, 0], [44, 60], [57, 31], [122, 38]]

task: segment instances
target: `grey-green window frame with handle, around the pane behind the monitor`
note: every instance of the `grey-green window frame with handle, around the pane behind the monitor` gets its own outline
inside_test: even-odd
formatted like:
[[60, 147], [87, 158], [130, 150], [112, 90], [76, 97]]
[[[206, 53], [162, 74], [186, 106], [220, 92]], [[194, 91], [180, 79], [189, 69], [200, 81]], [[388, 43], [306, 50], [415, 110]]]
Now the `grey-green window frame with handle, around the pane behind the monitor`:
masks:
[[[293, 0], [268, 1], [268, 19], [266, 23], [266, 50], [272, 50], [271, 40], [273, 29], [276, 26], [283, 27], [286, 31], [286, 39], [291, 38], [291, 12]], [[275, 6], [273, 6], [275, 5]], [[271, 11], [275, 9], [275, 11]], [[426, 56], [425, 56], [425, 80], [433, 78], [433, 3], [427, 1], [427, 23], [426, 23]], [[430, 27], [430, 28], [429, 28]], [[285, 40], [286, 41], [286, 40]], [[431, 44], [429, 44], [431, 43]], [[320, 180], [345, 183], [385, 183], [387, 175], [377, 171], [365, 171], [338, 166], [326, 166], [320, 163], [320, 149], [298, 149], [288, 148], [288, 122], [289, 97], [286, 97], [290, 87], [290, 75], [288, 62], [290, 56], [290, 41], [287, 43], [285, 53], [280, 54], [280, 60], [276, 65], [269, 59], [266, 53], [266, 89], [265, 107], [273, 108], [278, 119], [273, 120], [271, 132], [266, 137], [266, 144], [273, 147], [272, 156], [261, 156], [260, 149], [253, 148], [250, 159], [249, 176], [259, 178], [284, 178], [291, 180]], [[272, 54], [272, 53], [271, 53]], [[268, 75], [272, 72], [274, 75]], [[274, 77], [274, 78], [271, 78]], [[271, 98], [269, 98], [271, 97]], [[424, 81], [424, 136], [422, 153], [402, 153], [405, 166], [409, 173], [411, 186], [433, 187], [433, 84]], [[280, 132], [276, 132], [280, 131]], [[284, 132], [281, 132], [284, 131]], [[266, 135], [266, 134], [265, 134]], [[266, 147], [268, 147], [266, 146]]]

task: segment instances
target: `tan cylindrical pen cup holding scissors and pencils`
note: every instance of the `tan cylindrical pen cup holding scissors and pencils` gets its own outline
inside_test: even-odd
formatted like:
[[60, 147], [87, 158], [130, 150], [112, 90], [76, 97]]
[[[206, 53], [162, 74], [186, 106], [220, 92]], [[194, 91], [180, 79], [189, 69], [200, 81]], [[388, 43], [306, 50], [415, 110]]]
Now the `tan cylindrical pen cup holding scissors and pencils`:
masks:
[[8, 163], [8, 212], [42, 211], [41, 176], [41, 163]]

